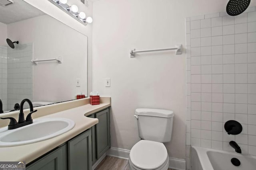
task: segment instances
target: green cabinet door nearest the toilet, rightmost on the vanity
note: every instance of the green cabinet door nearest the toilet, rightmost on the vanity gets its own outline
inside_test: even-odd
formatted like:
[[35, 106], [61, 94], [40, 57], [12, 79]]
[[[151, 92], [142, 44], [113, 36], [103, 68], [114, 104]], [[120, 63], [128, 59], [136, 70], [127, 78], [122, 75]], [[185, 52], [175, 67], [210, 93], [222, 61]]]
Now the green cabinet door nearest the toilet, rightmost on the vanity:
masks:
[[100, 111], [95, 117], [99, 119], [96, 124], [96, 158], [99, 159], [110, 148], [109, 110]]

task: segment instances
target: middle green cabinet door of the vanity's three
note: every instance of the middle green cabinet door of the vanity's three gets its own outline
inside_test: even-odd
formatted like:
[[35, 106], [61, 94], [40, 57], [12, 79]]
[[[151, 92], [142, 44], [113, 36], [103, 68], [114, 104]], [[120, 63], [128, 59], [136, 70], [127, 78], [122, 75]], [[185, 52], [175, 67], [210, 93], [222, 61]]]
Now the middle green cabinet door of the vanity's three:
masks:
[[68, 141], [68, 170], [92, 170], [91, 130]]

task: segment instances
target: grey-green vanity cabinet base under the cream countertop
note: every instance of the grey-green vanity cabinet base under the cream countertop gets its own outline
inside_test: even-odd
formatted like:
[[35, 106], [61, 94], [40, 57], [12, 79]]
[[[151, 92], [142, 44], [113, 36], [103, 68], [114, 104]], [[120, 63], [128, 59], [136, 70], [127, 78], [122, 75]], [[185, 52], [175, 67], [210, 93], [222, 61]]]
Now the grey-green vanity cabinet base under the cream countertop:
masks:
[[27, 170], [92, 170], [110, 147], [109, 109], [92, 113], [99, 123], [28, 164]]

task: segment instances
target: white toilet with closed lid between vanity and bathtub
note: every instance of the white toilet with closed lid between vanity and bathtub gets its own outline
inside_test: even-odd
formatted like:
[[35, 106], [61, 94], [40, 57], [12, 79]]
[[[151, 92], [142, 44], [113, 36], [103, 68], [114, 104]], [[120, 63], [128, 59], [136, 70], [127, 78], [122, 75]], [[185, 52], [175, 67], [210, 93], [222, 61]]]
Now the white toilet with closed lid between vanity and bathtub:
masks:
[[134, 117], [142, 140], [130, 151], [130, 170], [168, 170], [169, 156], [163, 143], [171, 141], [173, 111], [141, 108]]

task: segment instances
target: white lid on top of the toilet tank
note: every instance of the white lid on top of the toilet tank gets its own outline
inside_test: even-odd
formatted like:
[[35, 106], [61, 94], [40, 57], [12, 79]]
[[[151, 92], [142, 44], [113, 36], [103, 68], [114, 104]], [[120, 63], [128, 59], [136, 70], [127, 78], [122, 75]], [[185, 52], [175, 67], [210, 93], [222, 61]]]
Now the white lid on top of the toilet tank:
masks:
[[139, 108], [135, 110], [135, 113], [136, 115], [144, 115], [144, 116], [174, 117], [173, 111], [165, 110], [165, 109]]

